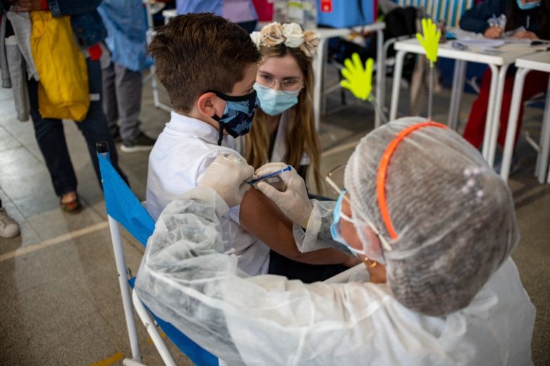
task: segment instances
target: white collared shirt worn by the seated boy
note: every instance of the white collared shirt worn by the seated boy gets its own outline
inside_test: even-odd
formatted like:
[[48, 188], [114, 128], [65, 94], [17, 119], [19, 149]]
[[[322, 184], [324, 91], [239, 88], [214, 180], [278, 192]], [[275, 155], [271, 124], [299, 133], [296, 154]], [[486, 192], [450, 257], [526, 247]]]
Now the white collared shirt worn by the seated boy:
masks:
[[[197, 187], [216, 156], [238, 155], [233, 137], [225, 135], [221, 146], [218, 137], [219, 131], [206, 122], [171, 112], [170, 122], [149, 155], [147, 211], [155, 221], [173, 198]], [[226, 253], [238, 255], [238, 267], [247, 274], [266, 274], [270, 249], [240, 227], [239, 208], [235, 206], [221, 217]]]

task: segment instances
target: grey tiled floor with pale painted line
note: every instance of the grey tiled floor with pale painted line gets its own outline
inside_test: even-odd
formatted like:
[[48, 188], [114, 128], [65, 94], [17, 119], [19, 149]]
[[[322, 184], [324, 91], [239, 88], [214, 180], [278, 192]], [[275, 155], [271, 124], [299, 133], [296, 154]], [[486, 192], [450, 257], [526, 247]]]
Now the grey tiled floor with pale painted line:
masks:
[[[446, 120], [448, 94], [436, 96], [434, 119]], [[472, 96], [464, 99], [462, 119], [468, 117]], [[157, 136], [169, 113], [152, 106], [148, 85], [142, 101], [142, 128]], [[338, 94], [327, 103], [329, 111], [338, 107]], [[402, 115], [407, 103], [402, 97]], [[371, 108], [352, 104], [327, 114], [320, 126], [323, 173], [345, 162], [373, 127]], [[541, 109], [527, 108], [527, 130], [536, 134], [541, 120]], [[17, 238], [0, 239], [0, 365], [109, 365], [121, 354], [130, 355], [102, 191], [80, 132], [73, 122], [65, 128], [85, 205], [78, 215], [59, 209], [31, 122], [16, 121], [11, 91], [0, 90], [0, 198], [22, 230]], [[548, 365], [550, 188], [532, 176], [535, 155], [525, 141], [519, 150], [522, 166], [510, 185], [522, 238], [513, 256], [537, 306], [533, 359]], [[119, 156], [133, 190], [144, 199], [148, 153]], [[126, 261], [135, 271], [142, 247], [126, 233], [123, 239]], [[138, 329], [145, 362], [160, 365], [145, 330], [139, 324]], [[178, 351], [173, 354], [178, 364], [190, 364]]]

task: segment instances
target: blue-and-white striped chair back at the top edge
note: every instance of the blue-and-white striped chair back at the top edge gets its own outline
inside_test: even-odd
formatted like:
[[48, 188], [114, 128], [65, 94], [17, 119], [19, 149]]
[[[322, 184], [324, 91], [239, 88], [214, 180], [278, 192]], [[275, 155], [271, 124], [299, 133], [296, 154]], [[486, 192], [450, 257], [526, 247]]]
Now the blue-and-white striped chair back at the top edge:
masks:
[[446, 20], [447, 27], [458, 27], [460, 17], [472, 7], [473, 0], [397, 0], [398, 6], [424, 8], [430, 18]]

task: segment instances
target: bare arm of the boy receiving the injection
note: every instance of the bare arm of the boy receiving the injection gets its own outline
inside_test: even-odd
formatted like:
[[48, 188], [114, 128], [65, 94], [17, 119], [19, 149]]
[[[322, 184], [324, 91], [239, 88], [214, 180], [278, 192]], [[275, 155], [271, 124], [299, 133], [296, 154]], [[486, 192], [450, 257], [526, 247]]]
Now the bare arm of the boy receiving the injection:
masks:
[[351, 267], [359, 263], [355, 258], [332, 248], [307, 253], [298, 251], [292, 234], [292, 222], [257, 189], [252, 188], [245, 194], [240, 203], [239, 220], [247, 232], [286, 258], [314, 265], [343, 264]]

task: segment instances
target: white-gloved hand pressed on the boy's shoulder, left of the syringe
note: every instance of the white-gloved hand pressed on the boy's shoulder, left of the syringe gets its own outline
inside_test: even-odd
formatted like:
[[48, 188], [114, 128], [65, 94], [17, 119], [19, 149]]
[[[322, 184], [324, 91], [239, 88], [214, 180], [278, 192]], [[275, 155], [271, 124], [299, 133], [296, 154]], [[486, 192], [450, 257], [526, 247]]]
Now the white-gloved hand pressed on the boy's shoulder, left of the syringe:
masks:
[[227, 206], [238, 206], [250, 189], [250, 184], [245, 181], [253, 174], [254, 168], [243, 158], [220, 155], [204, 172], [198, 187], [211, 187], [224, 198]]

